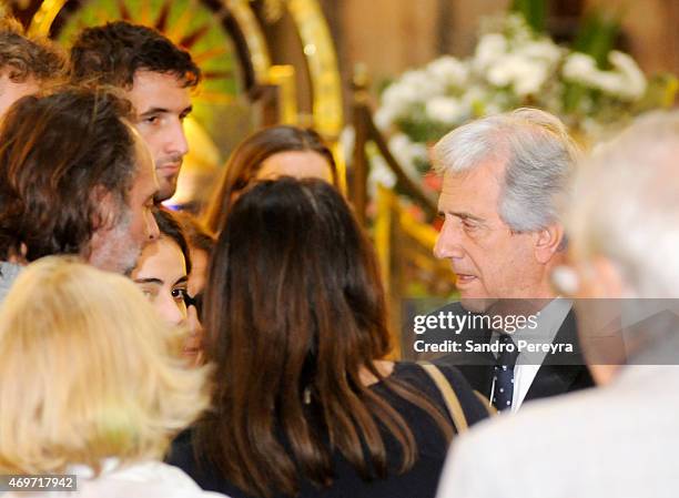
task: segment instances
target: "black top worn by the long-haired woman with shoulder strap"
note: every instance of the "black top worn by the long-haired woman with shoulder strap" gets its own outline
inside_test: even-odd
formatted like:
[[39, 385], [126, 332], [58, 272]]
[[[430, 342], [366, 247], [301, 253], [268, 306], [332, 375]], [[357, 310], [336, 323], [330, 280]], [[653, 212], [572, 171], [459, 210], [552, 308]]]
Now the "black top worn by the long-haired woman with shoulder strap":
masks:
[[[488, 416], [487, 408], [474, 394], [462, 374], [454, 367], [439, 366], [460, 402], [467, 423], [476, 424]], [[445, 402], [429, 376], [416, 364], [397, 363], [392, 374], [395, 378], [413, 386], [418, 393], [427, 396], [443, 413], [448, 414]], [[328, 488], [317, 489], [310, 481], [300, 484], [301, 498], [428, 498], [434, 497], [442, 467], [446, 457], [447, 445], [443, 434], [432, 417], [422, 408], [406, 402], [392, 393], [383, 383], [372, 389], [389, 403], [408, 424], [417, 443], [417, 460], [405, 474], [395, 469], [401, 464], [401, 451], [397, 440], [386, 430], [382, 431], [387, 451], [388, 468], [393, 469], [386, 479], [365, 481], [351, 464], [337, 451], [333, 456], [335, 479]], [[448, 421], [453, 421], [448, 418]], [[252, 498], [236, 488], [220, 475], [220, 471], [207, 461], [195, 460], [191, 431], [183, 433], [172, 445], [168, 459], [172, 465], [182, 468], [203, 488], [219, 491], [232, 498]], [[283, 495], [276, 495], [283, 498]]]

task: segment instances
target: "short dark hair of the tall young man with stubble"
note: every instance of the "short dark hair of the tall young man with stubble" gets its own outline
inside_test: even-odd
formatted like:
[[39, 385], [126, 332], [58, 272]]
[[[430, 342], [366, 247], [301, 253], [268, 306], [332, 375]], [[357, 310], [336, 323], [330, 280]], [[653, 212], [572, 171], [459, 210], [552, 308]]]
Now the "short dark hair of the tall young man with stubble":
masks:
[[159, 31], [126, 21], [85, 28], [71, 47], [71, 79], [75, 83], [129, 89], [136, 71], [169, 73], [195, 87], [201, 70], [191, 54]]

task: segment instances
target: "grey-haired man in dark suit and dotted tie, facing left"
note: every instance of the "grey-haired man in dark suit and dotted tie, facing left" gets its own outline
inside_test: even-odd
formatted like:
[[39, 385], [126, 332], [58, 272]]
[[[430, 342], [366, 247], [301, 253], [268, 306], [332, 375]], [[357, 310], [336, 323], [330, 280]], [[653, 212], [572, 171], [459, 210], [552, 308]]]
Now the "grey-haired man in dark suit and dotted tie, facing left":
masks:
[[556, 200], [577, 156], [564, 124], [536, 109], [473, 121], [433, 150], [444, 218], [434, 253], [450, 261], [464, 313], [514, 313], [536, 324], [457, 331], [462, 347], [437, 360], [458, 366], [498, 410], [592, 385], [571, 303], [557, 299], [550, 282], [566, 248]]

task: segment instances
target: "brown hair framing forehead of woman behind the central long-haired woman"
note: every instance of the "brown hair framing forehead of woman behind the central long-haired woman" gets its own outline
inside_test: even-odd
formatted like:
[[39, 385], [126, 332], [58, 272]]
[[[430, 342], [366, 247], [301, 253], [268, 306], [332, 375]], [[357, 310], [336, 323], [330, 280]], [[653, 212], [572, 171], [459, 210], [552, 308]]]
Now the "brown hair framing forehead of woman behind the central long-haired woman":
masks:
[[337, 184], [337, 166], [333, 153], [314, 130], [278, 125], [265, 128], [247, 136], [233, 151], [224, 166], [219, 186], [205, 209], [205, 226], [220, 232], [229, 214], [234, 194], [245, 189], [255, 177], [262, 163], [280, 152], [311, 151], [327, 160]]

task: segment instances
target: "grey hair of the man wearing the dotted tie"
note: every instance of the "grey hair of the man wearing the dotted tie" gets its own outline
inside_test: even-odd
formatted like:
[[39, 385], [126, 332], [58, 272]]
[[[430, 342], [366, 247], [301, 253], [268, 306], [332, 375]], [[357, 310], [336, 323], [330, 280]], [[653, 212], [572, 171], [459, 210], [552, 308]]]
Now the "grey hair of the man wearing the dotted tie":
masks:
[[557, 197], [565, 194], [578, 155], [558, 118], [526, 108], [457, 128], [433, 150], [440, 174], [506, 162], [498, 213], [516, 232], [534, 232], [559, 220]]

